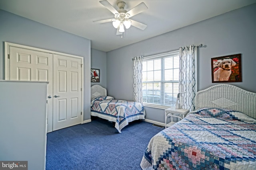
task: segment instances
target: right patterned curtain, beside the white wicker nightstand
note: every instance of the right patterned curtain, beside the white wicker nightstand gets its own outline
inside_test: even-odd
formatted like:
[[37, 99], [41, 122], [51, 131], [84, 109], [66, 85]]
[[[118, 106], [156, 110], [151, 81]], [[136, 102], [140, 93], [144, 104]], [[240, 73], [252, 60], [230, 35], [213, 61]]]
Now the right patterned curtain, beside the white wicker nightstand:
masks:
[[181, 107], [195, 110], [195, 95], [197, 92], [197, 47], [180, 47], [180, 78], [179, 90]]

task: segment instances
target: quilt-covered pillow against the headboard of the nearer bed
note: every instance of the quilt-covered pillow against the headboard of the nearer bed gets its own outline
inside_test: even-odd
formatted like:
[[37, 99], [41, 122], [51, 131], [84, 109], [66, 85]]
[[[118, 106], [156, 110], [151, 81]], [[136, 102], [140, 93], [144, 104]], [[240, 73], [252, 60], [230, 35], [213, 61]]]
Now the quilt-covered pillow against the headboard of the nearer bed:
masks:
[[256, 119], [253, 119], [240, 111], [232, 109], [204, 107], [196, 110], [195, 113], [209, 117], [216, 117], [219, 119], [240, 120], [248, 123], [256, 123]]

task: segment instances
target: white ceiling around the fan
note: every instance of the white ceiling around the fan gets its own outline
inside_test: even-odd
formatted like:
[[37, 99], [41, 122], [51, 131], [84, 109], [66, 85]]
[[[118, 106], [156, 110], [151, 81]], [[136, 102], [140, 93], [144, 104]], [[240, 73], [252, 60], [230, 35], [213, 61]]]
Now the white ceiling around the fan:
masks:
[[131, 19], [148, 27], [131, 26], [121, 39], [111, 22], [92, 21], [114, 18], [99, 0], [0, 0], [0, 9], [91, 40], [91, 47], [111, 51], [160, 35], [231, 10], [256, 3], [256, 0], [108, 0], [126, 2], [130, 10], [144, 2], [148, 10]]

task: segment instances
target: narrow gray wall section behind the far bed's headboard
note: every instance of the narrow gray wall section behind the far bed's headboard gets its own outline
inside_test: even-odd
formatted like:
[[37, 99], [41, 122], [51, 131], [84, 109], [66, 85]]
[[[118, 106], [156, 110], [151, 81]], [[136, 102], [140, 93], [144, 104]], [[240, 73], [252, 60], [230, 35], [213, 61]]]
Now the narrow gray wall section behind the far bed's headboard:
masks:
[[91, 49], [91, 68], [100, 69], [100, 82], [91, 82], [91, 86], [98, 84], [107, 88], [107, 53], [104, 51]]

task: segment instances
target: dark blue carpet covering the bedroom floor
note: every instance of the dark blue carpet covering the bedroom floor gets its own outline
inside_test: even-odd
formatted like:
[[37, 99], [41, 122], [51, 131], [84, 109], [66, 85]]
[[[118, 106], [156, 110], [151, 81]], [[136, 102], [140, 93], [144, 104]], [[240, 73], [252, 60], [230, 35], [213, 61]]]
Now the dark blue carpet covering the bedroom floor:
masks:
[[46, 170], [141, 170], [148, 142], [163, 129], [134, 121], [118, 133], [97, 118], [53, 131], [47, 134]]

